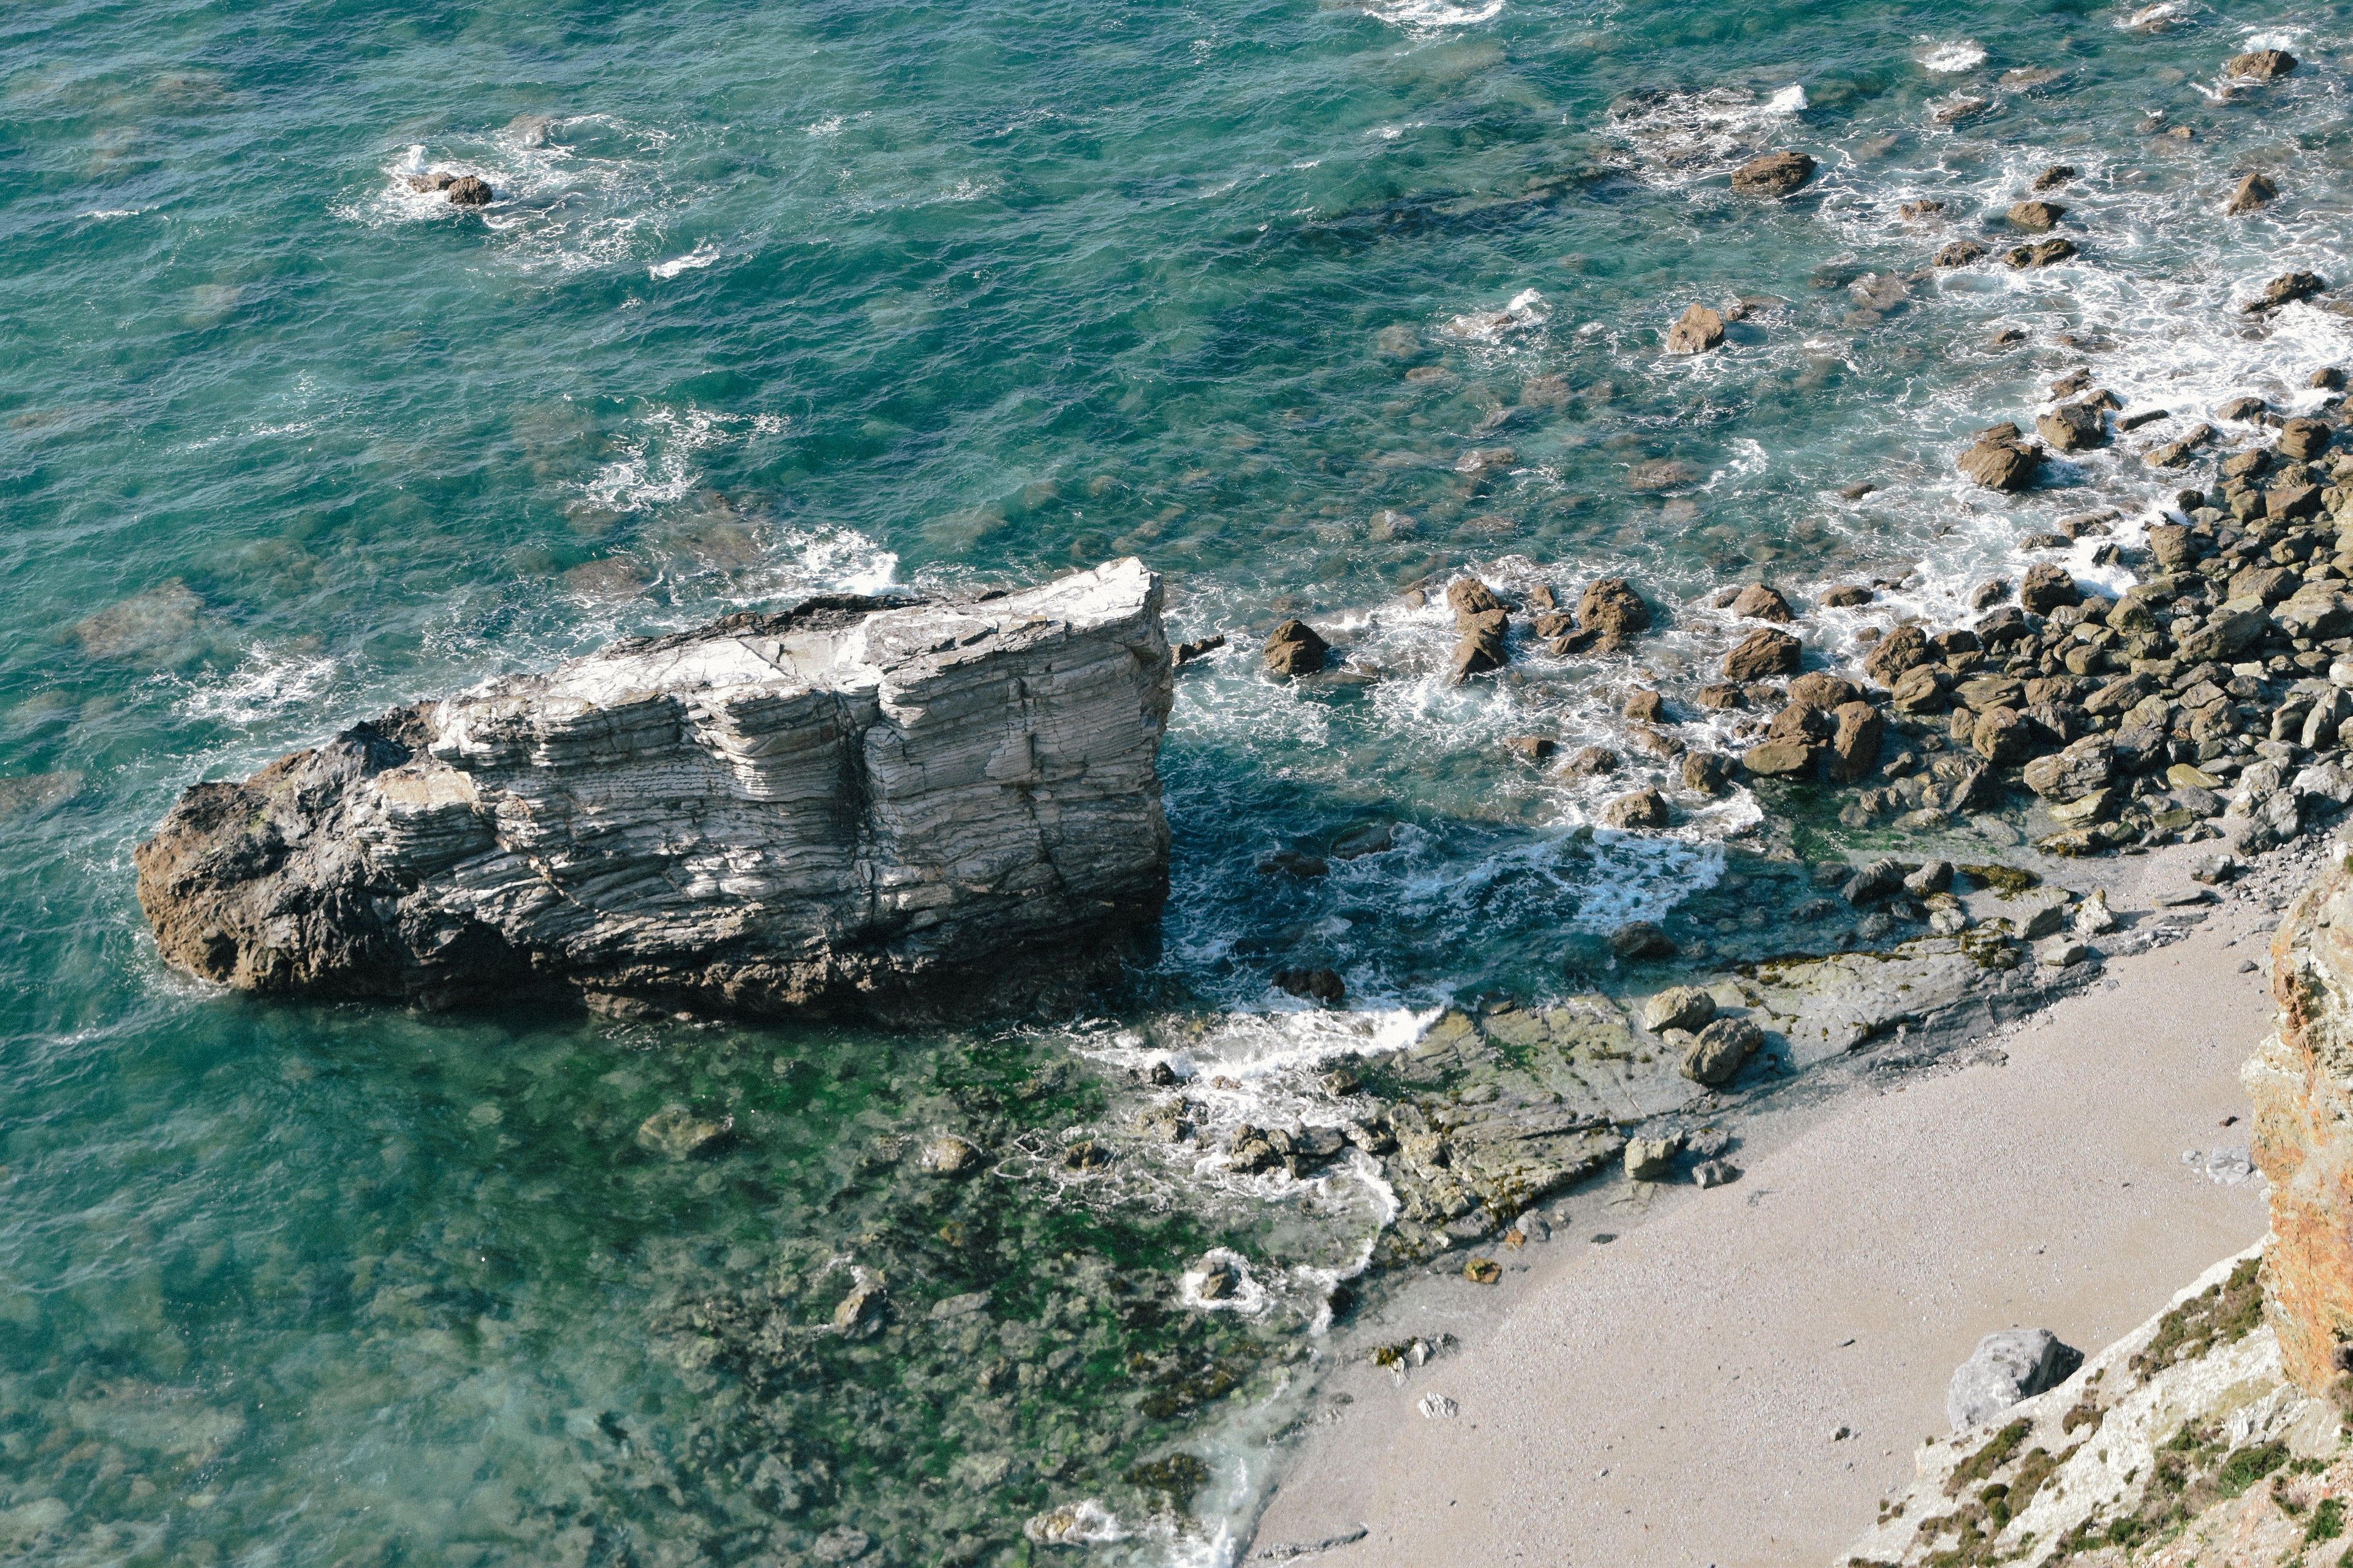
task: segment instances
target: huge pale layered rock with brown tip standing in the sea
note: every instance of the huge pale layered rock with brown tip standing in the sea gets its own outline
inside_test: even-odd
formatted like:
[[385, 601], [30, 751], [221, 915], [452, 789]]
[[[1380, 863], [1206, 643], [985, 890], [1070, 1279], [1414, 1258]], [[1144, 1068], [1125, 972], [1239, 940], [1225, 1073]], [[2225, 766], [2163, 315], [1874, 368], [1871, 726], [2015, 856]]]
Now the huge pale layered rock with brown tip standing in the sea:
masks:
[[139, 903], [169, 964], [264, 994], [1075, 1004], [1167, 900], [1169, 696], [1136, 559], [739, 614], [193, 785], [136, 851]]

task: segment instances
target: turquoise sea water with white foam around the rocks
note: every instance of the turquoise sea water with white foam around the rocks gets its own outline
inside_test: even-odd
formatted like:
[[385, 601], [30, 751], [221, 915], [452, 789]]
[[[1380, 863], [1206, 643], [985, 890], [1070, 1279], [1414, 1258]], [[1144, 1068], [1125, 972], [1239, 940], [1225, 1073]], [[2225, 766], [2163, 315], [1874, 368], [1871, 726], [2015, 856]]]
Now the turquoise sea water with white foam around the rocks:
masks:
[[[1713, 672], [1725, 583], [1892, 583], [1807, 621], [1840, 661], [2061, 512], [2129, 541], [2169, 484], [2122, 451], [2019, 501], [1951, 470], [2078, 364], [2127, 407], [2318, 400], [2346, 320], [2231, 301], [2344, 273], [2348, 40], [2344, 5], [2195, 0], [7, 7], [0, 1554], [979, 1563], [1082, 1500], [1106, 1561], [1228, 1554], [1379, 1185], [1066, 1145], [1172, 1048], [1282, 1114], [1631, 914], [1746, 940], [1708, 889], [1758, 802], [1595, 844], [1645, 759], [1567, 785], [1499, 741], [1624, 748], [1633, 684]], [[2257, 45], [2306, 66], [2221, 92]], [[1781, 146], [1805, 195], [1727, 190]], [[2080, 261], [1925, 266], [2054, 162]], [[2245, 169], [2285, 197], [2226, 221]], [[1734, 296], [1727, 350], [1659, 357]], [[144, 936], [129, 846], [179, 788], [395, 701], [1127, 552], [1238, 651], [1179, 682], [1176, 900], [1120, 1018], [256, 1006]], [[1628, 571], [1664, 630], [1449, 689], [1398, 592], [1464, 569]], [[1282, 614], [1381, 682], [1261, 682]], [[1322, 882], [1249, 870], [1367, 825]], [[1348, 1018], [1266, 987], [1308, 961]], [[666, 1105], [732, 1143], [642, 1150]], [[941, 1128], [986, 1180], [913, 1173]], [[1209, 1246], [1240, 1309], [1172, 1284]], [[887, 1321], [812, 1333], [861, 1269]], [[741, 1314], [772, 1354], [713, 1361]], [[1172, 1453], [1202, 1472], [1136, 1469]]]

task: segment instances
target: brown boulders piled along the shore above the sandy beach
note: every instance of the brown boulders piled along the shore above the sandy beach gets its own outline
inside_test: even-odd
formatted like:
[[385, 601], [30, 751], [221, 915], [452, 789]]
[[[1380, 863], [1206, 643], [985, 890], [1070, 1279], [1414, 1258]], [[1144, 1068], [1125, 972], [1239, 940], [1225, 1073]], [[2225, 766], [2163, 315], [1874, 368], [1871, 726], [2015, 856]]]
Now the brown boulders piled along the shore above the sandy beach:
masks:
[[[2318, 280], [2308, 280], [2318, 284]], [[2282, 280], [2289, 294], [2304, 287]], [[2278, 289], [2275, 289], [2278, 292]], [[2341, 371], [2320, 371], [2341, 386]], [[2061, 402], [2038, 418], [2054, 447], [2111, 437], [2113, 395], [2089, 374], [2052, 388]], [[1666, 696], [1638, 686], [1624, 703], [1628, 750], [1673, 769], [1680, 790], [1645, 785], [1609, 799], [1600, 823], [1666, 830], [1737, 780], [1760, 785], [1767, 806], [1795, 804], [1791, 788], [1828, 790], [1847, 827], [1939, 832], [1958, 825], [2026, 823], [2052, 856], [2231, 837], [2247, 846], [2294, 839], [2353, 802], [2339, 726], [2353, 715], [2353, 456], [2334, 454], [2337, 430], [2280, 418], [2257, 397], [2214, 411], [2231, 435], [2200, 423], [2146, 454], [2158, 468], [2214, 461], [2212, 489], [2184, 489], [2169, 520], [2132, 524], [2115, 508], [2059, 517], [2028, 550], [2099, 548], [2106, 564], [2139, 571], [2118, 597], [2087, 590], [2057, 562], [2024, 578], [1986, 581], [1969, 625], [1899, 621], [1864, 630], [1859, 668], [1807, 668], [1805, 611], [1769, 583], [1706, 599], [1734, 637], [1720, 679]], [[2137, 416], [2113, 421], [2137, 428]], [[2017, 491], [2040, 473], [2045, 449], [2014, 423], [1979, 435], [1960, 456], [1977, 482]], [[1419, 602], [1421, 590], [1407, 595]], [[1868, 604], [1878, 588], [1833, 585], [1819, 609]], [[1501, 670], [1511, 616], [1532, 616], [1529, 637], [1553, 656], [1626, 651], [1654, 616], [1626, 578], [1595, 578], [1565, 609], [1551, 588], [1506, 604], [1478, 578], [1445, 588], [1459, 646], [1454, 679]], [[1689, 611], [1687, 611], [1689, 614]], [[1329, 644], [1287, 621], [1266, 644], [1275, 677], [1318, 677]], [[1341, 668], [1339, 675], [1348, 675]], [[1619, 752], [1584, 748], [1555, 762], [1558, 741], [1525, 736], [1511, 748], [1567, 778], [1626, 766]], [[2235, 825], [2245, 820], [2245, 827]], [[2002, 825], [1995, 842], [2017, 842]]]

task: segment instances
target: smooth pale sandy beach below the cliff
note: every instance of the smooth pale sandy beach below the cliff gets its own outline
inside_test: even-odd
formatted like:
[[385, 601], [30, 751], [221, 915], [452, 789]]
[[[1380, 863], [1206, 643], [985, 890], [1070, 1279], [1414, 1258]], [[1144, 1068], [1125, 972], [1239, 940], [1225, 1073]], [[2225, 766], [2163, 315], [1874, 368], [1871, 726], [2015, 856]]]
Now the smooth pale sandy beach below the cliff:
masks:
[[[1402, 1380], [1351, 1354], [1252, 1561], [1835, 1561], [1946, 1432], [1946, 1380], [1984, 1333], [2094, 1352], [2264, 1234], [2261, 1182], [2181, 1157], [2245, 1145], [2238, 1065], [2271, 1027], [2247, 964], [2301, 872], [2275, 877], [1988, 1037], [1977, 1065], [1857, 1091], [1737, 1154], [1729, 1187], [1647, 1194], [1631, 1227], [1612, 1222], [1624, 1187], [1579, 1194], [1504, 1286], [1405, 1293], [1348, 1347], [1459, 1347]], [[2146, 912], [2169, 886], [2181, 851], [2115, 903]], [[1457, 1415], [1424, 1415], [1431, 1396]]]

